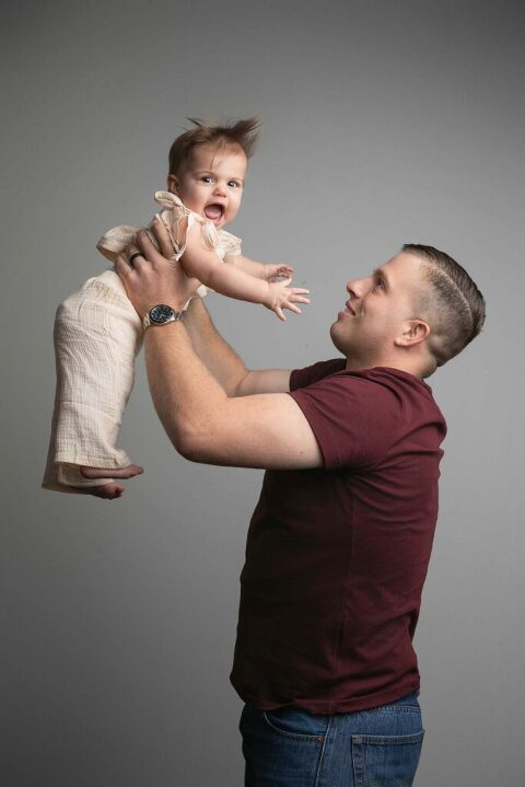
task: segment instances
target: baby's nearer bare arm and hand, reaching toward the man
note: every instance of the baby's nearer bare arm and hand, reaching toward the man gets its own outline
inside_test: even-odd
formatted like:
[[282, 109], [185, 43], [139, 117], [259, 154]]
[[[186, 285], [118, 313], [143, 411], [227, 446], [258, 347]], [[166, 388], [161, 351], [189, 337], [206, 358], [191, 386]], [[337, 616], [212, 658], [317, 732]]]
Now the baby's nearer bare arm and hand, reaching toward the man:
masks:
[[308, 290], [290, 287], [290, 278], [283, 281], [267, 281], [256, 278], [242, 267], [224, 265], [218, 255], [205, 245], [200, 227], [197, 224], [188, 229], [187, 247], [180, 262], [188, 276], [195, 276], [223, 296], [262, 303], [275, 311], [280, 320], [285, 320], [283, 309], [299, 313], [301, 310], [295, 303], [310, 303], [305, 298]]

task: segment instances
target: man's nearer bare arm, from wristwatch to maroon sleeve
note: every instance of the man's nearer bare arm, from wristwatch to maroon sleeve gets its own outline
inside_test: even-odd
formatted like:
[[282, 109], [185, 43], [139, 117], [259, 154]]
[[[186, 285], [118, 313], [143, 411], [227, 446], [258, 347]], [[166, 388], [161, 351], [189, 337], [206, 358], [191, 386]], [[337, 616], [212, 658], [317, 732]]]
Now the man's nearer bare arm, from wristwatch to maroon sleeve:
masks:
[[149, 328], [144, 345], [156, 413], [183, 456], [237, 467], [323, 465], [294, 400], [282, 393], [229, 397], [195, 352], [184, 323]]

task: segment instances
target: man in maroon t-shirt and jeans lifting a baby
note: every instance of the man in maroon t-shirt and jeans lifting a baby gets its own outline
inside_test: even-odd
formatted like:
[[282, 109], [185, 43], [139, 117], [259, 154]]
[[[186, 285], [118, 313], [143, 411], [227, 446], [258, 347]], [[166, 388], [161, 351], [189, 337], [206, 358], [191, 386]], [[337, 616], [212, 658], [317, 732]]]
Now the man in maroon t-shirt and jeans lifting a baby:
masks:
[[[343, 358], [248, 371], [199, 299], [179, 312], [197, 282], [153, 231], [162, 254], [141, 232], [116, 269], [145, 319], [159, 417], [191, 461], [268, 471], [232, 672], [246, 785], [410, 785], [423, 738], [412, 636], [445, 436], [423, 378], [479, 333], [482, 296], [446, 254], [406, 245], [347, 285], [331, 326]], [[189, 239], [187, 254], [207, 253]]]

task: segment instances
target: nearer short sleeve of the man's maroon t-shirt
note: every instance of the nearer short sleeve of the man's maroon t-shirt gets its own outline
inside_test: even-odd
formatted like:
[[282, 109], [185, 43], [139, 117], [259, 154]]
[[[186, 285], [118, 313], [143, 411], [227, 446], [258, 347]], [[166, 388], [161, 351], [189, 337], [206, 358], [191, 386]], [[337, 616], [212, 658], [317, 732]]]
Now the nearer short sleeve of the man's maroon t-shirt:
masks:
[[339, 372], [290, 395], [315, 435], [326, 470], [370, 467], [396, 440], [402, 398], [381, 380]]

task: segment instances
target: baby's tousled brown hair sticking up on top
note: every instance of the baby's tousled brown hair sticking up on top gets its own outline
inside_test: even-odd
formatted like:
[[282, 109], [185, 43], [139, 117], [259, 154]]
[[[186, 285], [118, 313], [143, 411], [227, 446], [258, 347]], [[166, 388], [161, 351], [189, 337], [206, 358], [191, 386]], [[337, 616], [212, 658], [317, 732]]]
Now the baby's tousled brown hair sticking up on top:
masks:
[[194, 124], [194, 128], [177, 137], [170, 149], [171, 175], [179, 175], [184, 172], [194, 149], [199, 144], [241, 148], [247, 159], [252, 157], [260, 128], [260, 120], [257, 116], [223, 125], [211, 125], [197, 117], [187, 119]]

